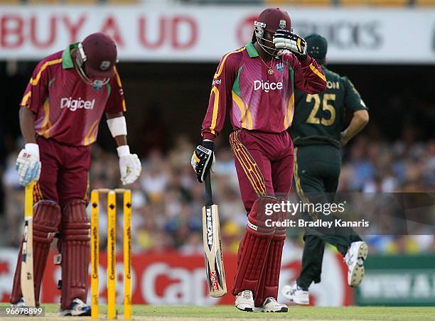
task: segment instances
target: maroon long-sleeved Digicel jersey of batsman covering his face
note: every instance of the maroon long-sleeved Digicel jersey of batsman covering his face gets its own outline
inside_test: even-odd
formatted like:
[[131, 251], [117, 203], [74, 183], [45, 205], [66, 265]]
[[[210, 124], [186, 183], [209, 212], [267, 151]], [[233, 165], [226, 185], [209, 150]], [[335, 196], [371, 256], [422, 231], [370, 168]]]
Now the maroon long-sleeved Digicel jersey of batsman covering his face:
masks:
[[326, 77], [309, 55], [304, 62], [292, 54], [263, 62], [254, 44], [247, 43], [222, 57], [212, 86], [202, 128], [208, 139], [222, 131], [227, 109], [233, 129], [285, 131], [293, 120], [294, 90], [322, 92]]

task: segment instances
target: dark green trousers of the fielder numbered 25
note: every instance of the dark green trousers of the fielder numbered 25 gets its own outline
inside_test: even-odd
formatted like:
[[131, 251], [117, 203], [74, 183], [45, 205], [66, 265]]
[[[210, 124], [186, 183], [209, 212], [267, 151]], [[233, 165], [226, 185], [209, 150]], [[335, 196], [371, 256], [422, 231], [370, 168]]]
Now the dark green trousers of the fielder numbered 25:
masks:
[[[340, 176], [341, 154], [332, 145], [310, 145], [294, 148], [294, 185], [303, 202], [333, 202]], [[314, 219], [305, 215], [306, 219]], [[307, 290], [311, 282], [321, 281], [325, 244], [335, 246], [345, 256], [348, 247], [360, 236], [351, 228], [333, 231], [307, 227], [304, 234], [302, 268], [296, 280], [299, 287]]]

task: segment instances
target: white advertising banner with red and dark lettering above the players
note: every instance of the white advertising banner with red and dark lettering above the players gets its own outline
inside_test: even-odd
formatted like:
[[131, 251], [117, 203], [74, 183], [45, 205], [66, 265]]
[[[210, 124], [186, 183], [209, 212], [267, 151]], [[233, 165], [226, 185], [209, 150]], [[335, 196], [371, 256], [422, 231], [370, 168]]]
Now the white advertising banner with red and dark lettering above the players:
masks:
[[[328, 39], [330, 62], [435, 64], [435, 9], [295, 9], [296, 33]], [[252, 37], [261, 7], [0, 6], [0, 60], [43, 58], [89, 33], [120, 60], [213, 62]]]

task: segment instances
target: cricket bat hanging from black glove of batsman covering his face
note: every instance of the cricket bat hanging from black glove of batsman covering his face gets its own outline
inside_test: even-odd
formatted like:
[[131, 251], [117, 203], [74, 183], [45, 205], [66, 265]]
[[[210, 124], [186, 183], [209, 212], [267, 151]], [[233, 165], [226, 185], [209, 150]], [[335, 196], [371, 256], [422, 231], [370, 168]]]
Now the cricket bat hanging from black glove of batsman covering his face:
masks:
[[213, 203], [210, 172], [205, 177], [205, 205], [203, 206], [203, 241], [205, 271], [210, 295], [219, 298], [227, 293], [225, 270], [220, 244], [218, 205]]

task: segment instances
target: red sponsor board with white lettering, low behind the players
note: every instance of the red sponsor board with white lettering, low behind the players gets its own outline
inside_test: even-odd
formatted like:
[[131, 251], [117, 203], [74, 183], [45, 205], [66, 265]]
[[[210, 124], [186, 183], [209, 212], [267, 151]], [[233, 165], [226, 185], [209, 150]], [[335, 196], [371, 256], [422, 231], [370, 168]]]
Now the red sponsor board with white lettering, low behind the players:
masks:
[[[60, 290], [57, 289], [60, 267], [53, 265], [53, 255], [48, 257], [43, 278], [41, 302], [60, 302]], [[15, 249], [0, 250], [0, 301], [8, 301], [16, 265]], [[280, 284], [289, 284], [301, 270], [301, 250], [285, 249], [281, 267]], [[212, 298], [208, 293], [205, 275], [204, 256], [164, 252], [159, 254], [132, 254], [131, 291], [134, 304], [151, 305], [218, 305], [234, 304], [231, 295], [235, 276], [237, 256], [224, 256], [227, 295]], [[124, 297], [124, 265], [122, 253], [117, 254], [117, 303]], [[107, 302], [107, 256], [100, 253], [100, 303]], [[322, 283], [310, 288], [313, 305], [350, 305], [353, 302], [352, 289], [346, 281], [347, 267], [339, 254], [326, 251], [323, 258]], [[89, 283], [90, 284], [90, 283]], [[90, 291], [89, 291], [90, 293]], [[333, 294], [333, 295], [331, 295]], [[285, 300], [279, 298], [281, 302]], [[88, 299], [88, 302], [90, 300]]]

